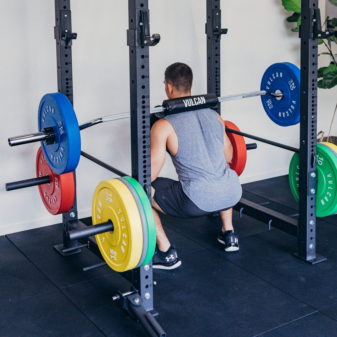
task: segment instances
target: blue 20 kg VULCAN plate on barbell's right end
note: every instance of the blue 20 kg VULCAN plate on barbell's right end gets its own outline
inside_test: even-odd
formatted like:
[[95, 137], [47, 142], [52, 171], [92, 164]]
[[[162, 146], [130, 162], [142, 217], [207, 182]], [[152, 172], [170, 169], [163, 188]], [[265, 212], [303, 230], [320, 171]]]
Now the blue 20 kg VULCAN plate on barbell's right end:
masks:
[[289, 62], [274, 63], [263, 74], [261, 90], [281, 91], [281, 99], [261, 96], [268, 117], [281, 126], [300, 122], [300, 69]]

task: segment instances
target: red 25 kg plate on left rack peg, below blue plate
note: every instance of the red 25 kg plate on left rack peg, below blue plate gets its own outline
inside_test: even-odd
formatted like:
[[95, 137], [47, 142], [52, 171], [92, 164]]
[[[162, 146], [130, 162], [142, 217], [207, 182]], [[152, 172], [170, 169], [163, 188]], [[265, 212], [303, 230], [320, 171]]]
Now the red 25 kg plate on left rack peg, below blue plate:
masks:
[[36, 177], [50, 177], [50, 184], [39, 185], [42, 202], [51, 214], [70, 211], [75, 199], [75, 181], [72, 172], [56, 174], [45, 160], [42, 148], [37, 151]]

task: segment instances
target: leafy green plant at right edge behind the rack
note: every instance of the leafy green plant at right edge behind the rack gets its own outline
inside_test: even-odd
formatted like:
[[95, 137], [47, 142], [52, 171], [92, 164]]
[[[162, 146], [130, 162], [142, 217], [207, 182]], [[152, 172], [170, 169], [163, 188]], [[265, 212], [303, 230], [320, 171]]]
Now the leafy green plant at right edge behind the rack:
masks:
[[[337, 0], [329, 0], [329, 2], [337, 6]], [[296, 22], [297, 27], [292, 28], [292, 31], [298, 32], [299, 26], [301, 24], [301, 0], [282, 0], [282, 5], [285, 10], [293, 12], [293, 14], [287, 18], [287, 21]], [[329, 17], [327, 17], [324, 24], [325, 23], [327, 23], [327, 28], [335, 28], [337, 27], [337, 18], [330, 19]], [[337, 85], [337, 54], [336, 51], [334, 51], [337, 45], [337, 31], [335, 31], [335, 34], [333, 34], [326, 40], [318, 39], [318, 44], [324, 44], [327, 50], [326, 52], [318, 54], [318, 56], [323, 54], [330, 55], [330, 64], [328, 64], [325, 67], [318, 68], [317, 78], [321, 80], [317, 82], [317, 86], [318, 88], [321, 89], [331, 89]], [[320, 131], [317, 134], [317, 139], [318, 135], [321, 135], [319, 139], [320, 142], [330, 141], [331, 143], [337, 145], [337, 137], [330, 136], [331, 127], [336, 114], [336, 110], [337, 110], [337, 103], [332, 117], [328, 136], [324, 137], [323, 131]]]

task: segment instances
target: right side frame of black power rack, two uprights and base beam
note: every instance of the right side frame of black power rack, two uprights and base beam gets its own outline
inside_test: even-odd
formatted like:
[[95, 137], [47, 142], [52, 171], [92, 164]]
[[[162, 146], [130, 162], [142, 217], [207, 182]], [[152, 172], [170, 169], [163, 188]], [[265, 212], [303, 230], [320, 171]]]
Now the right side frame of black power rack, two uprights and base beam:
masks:
[[[318, 0], [301, 2], [301, 100], [300, 100], [300, 172], [299, 219], [283, 215], [241, 198], [234, 210], [280, 229], [298, 238], [298, 252], [294, 255], [311, 264], [326, 260], [316, 253], [316, 130], [317, 130], [317, 61], [319, 37], [333, 34], [321, 30]], [[220, 0], [207, 0], [207, 93], [220, 96]], [[330, 35], [329, 35], [330, 36]], [[220, 113], [220, 107], [218, 108]]]

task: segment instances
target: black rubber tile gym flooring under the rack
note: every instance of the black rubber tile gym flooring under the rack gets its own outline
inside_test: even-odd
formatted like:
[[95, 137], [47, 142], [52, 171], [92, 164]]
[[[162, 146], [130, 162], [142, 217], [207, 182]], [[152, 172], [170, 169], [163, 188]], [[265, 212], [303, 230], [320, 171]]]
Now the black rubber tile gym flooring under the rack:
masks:
[[[285, 215], [298, 212], [288, 176], [242, 185], [243, 198]], [[337, 215], [317, 218], [310, 265], [293, 256], [297, 238], [233, 212], [240, 250], [217, 241], [211, 216], [161, 215], [181, 267], [154, 270], [154, 308], [167, 337], [337, 336]], [[62, 224], [0, 237], [0, 336], [137, 336], [142, 326], [111, 300], [130, 284], [89, 250], [62, 257]]]

